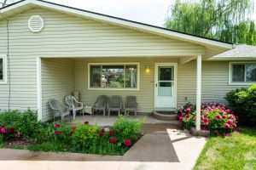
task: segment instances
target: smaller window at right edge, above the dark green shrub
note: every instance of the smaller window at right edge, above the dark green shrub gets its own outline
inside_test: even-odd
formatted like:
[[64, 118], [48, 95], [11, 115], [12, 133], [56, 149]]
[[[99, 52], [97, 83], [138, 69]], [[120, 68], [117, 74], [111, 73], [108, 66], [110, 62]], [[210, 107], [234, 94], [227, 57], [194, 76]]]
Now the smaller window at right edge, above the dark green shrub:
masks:
[[253, 83], [256, 82], [256, 63], [231, 63], [231, 83]]

